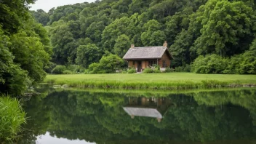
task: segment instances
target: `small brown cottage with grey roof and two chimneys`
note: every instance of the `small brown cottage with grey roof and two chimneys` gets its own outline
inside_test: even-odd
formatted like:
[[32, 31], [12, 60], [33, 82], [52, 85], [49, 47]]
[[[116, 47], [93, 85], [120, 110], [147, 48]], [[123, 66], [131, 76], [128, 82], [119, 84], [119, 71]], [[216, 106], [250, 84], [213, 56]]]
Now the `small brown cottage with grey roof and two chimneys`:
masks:
[[163, 46], [157, 47], [135, 47], [132, 44], [123, 59], [128, 61], [129, 67], [134, 67], [137, 72], [141, 72], [154, 64], [159, 65], [161, 71], [164, 71], [165, 68], [170, 67], [173, 58], [167, 49], [167, 41], [164, 41]]

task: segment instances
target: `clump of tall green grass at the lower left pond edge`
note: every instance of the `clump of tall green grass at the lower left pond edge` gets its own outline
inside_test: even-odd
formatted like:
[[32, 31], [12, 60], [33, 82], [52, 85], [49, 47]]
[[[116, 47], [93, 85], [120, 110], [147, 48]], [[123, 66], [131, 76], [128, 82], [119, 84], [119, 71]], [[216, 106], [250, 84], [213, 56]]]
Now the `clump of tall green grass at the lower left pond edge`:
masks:
[[25, 112], [17, 99], [0, 96], [0, 143], [11, 143], [25, 124]]

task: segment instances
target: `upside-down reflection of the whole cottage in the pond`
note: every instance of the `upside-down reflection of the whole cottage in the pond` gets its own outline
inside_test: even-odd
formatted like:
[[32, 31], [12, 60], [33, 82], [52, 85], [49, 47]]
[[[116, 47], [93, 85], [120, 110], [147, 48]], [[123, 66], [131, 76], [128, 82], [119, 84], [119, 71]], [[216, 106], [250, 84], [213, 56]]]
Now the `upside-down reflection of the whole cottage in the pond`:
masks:
[[131, 116], [145, 116], [156, 118], [161, 122], [165, 111], [171, 105], [171, 101], [166, 98], [154, 97], [129, 97], [129, 104], [124, 107], [124, 111]]

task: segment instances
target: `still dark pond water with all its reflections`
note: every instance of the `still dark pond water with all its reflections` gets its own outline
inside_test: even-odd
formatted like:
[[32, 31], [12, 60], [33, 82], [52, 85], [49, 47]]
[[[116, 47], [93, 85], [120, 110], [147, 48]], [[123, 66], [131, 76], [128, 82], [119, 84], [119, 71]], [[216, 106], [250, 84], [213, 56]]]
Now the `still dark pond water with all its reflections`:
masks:
[[256, 143], [256, 89], [39, 92], [18, 143]]

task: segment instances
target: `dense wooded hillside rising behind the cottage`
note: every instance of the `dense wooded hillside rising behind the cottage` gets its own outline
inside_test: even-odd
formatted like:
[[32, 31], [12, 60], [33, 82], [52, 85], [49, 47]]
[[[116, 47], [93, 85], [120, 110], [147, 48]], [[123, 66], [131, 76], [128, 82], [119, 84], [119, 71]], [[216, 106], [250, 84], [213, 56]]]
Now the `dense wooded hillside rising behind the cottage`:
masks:
[[104, 55], [123, 57], [130, 44], [167, 41], [172, 68], [256, 73], [253, 0], [97, 0], [31, 13], [49, 31], [57, 65], [88, 68]]

